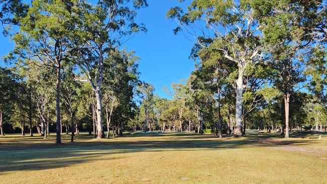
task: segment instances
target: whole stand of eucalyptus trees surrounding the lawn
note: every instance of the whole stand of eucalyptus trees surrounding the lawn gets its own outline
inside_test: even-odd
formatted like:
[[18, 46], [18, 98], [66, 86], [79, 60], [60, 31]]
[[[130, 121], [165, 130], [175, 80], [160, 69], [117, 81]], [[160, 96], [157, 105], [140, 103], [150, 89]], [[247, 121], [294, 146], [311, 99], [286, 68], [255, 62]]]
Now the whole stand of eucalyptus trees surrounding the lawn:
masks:
[[[46, 138], [62, 126], [123, 136], [124, 130], [238, 137], [246, 129], [322, 131], [327, 126], [326, 1], [182, 1], [167, 18], [194, 41], [195, 70], [172, 99], [140, 81], [134, 52], [145, 0], [0, 2], [15, 42], [1, 67], [1, 134], [29, 128]], [[11, 25], [19, 30], [14, 31]], [[186, 39], [187, 39], [186, 38]], [[172, 66], [174, 67], [174, 66]], [[34, 128], [33, 128], [34, 127]]]

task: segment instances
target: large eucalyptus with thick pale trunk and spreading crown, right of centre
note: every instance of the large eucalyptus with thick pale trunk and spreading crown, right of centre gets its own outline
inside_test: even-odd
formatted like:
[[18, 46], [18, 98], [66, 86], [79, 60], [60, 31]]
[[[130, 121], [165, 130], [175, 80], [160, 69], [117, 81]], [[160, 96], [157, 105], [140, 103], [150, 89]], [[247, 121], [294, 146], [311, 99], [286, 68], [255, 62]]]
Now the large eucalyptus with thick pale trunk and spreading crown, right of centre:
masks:
[[212, 39], [212, 44], [220, 51], [219, 55], [237, 64], [234, 136], [242, 135], [244, 72], [265, 57], [254, 2], [194, 0], [186, 13], [182, 8], [175, 7], [167, 14], [180, 25], [174, 30], [175, 33], [181, 30], [190, 33], [202, 47], [206, 47], [203, 41]]

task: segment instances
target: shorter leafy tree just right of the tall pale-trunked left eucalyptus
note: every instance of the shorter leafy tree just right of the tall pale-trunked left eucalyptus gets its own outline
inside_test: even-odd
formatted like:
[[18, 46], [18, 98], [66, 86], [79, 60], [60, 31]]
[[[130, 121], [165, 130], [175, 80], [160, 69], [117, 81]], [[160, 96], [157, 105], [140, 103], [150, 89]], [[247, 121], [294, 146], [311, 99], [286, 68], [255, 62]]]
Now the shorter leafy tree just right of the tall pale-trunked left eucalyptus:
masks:
[[102, 89], [107, 118], [107, 138], [115, 109], [120, 109], [119, 129], [122, 129], [123, 119], [128, 121], [129, 118], [127, 117], [131, 115], [131, 108], [134, 106], [133, 96], [139, 83], [138, 60], [139, 58], [134, 55], [134, 52], [116, 50], [111, 53], [111, 57], [104, 61], [105, 77], [103, 78]]

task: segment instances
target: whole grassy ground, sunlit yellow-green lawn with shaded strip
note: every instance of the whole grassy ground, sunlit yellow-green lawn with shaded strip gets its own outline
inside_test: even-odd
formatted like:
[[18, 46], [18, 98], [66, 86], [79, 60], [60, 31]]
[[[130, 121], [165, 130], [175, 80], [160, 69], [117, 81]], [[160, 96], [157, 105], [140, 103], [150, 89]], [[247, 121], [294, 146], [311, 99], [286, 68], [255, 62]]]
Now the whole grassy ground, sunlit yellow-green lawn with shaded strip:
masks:
[[0, 183], [327, 183], [326, 133], [54, 136], [0, 137]]

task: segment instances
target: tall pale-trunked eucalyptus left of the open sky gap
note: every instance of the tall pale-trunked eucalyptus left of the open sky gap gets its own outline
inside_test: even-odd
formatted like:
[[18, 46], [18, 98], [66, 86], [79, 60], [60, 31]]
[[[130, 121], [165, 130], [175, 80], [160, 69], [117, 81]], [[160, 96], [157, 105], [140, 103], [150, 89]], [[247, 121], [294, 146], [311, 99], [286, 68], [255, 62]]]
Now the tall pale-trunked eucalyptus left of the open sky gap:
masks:
[[104, 77], [104, 60], [111, 57], [129, 36], [146, 31], [135, 22], [136, 10], [146, 7], [146, 0], [96, 1], [78, 4], [79, 21], [75, 28], [80, 30], [74, 45], [76, 64], [87, 75], [87, 80], [97, 100], [97, 138], [104, 138], [101, 84]]

